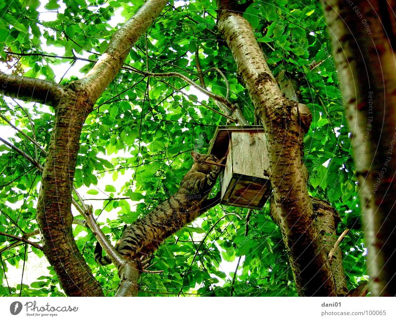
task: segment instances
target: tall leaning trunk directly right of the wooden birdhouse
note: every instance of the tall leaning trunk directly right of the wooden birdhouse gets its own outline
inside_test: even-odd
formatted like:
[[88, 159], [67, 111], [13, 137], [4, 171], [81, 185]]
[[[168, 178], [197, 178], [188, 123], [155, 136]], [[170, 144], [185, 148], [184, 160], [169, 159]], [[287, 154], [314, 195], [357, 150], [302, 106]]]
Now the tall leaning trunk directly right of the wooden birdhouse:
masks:
[[333, 296], [336, 287], [314, 220], [302, 170], [297, 102], [282, 96], [249, 23], [235, 0], [218, 1], [218, 29], [264, 126], [269, 144], [268, 173], [296, 286], [301, 296]]

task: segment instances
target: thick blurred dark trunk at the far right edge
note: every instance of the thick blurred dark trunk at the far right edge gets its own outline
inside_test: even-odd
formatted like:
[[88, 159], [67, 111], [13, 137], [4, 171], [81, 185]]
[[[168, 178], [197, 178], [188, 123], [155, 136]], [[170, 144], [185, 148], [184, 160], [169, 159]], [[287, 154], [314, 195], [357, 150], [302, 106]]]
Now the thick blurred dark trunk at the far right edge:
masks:
[[396, 295], [395, 1], [322, 0], [339, 71], [372, 295]]

